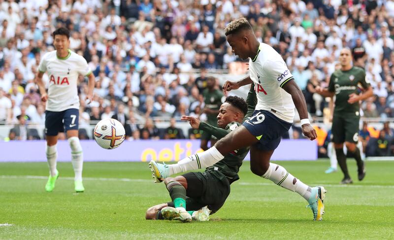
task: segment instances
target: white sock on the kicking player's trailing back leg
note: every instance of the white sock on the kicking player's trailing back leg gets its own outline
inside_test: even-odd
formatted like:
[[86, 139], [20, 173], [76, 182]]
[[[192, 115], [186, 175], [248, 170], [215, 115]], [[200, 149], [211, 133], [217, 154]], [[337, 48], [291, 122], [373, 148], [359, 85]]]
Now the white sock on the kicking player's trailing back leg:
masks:
[[291, 190], [301, 195], [306, 201], [311, 196], [311, 188], [292, 174], [286, 171], [285, 168], [274, 163], [269, 163], [268, 170], [262, 176], [263, 178], [273, 181], [275, 184]]

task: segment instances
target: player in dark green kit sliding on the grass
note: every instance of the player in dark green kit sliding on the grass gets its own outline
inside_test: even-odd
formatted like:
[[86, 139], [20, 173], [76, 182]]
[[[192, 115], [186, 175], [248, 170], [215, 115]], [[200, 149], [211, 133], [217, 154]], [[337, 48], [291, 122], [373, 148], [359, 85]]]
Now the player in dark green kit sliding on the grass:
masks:
[[[219, 128], [191, 116], [182, 116], [181, 120], [189, 121], [194, 129], [203, 130], [220, 139], [237, 129], [244, 118], [248, 117], [247, 112], [248, 105], [242, 98], [230, 96], [220, 106], [217, 115]], [[172, 202], [150, 207], [145, 218], [182, 222], [208, 221], [209, 213], [215, 213], [224, 205], [230, 194], [230, 184], [239, 179], [238, 171], [248, 151], [248, 146], [232, 151], [204, 172], [188, 172], [165, 178], [164, 183]], [[197, 155], [190, 158], [198, 161]]]

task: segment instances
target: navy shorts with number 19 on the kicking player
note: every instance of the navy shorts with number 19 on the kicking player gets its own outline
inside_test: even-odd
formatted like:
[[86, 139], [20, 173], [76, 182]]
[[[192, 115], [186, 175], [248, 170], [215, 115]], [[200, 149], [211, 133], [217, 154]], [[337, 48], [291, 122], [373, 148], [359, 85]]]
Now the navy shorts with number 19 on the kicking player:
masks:
[[253, 136], [259, 139], [257, 148], [263, 151], [275, 150], [282, 136], [289, 131], [292, 123], [279, 119], [265, 110], [255, 110], [252, 117], [242, 124]]

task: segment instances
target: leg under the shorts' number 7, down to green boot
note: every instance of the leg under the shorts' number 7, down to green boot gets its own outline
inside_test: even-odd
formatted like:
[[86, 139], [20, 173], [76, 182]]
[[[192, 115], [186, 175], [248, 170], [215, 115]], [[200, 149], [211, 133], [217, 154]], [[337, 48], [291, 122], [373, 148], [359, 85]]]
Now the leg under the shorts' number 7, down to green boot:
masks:
[[85, 188], [82, 184], [83, 152], [78, 138], [78, 109], [67, 109], [65, 111], [64, 123], [68, 144], [71, 148], [71, 163], [74, 169], [74, 185], [76, 192], [83, 192]]

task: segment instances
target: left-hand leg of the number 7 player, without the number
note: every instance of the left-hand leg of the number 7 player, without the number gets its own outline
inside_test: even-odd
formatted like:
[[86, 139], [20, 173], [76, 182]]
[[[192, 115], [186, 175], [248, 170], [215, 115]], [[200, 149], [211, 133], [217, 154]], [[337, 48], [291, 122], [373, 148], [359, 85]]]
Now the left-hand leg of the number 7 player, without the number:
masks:
[[55, 188], [56, 179], [59, 177], [57, 165], [57, 143], [60, 128], [63, 128], [62, 112], [45, 111], [45, 137], [46, 137], [46, 159], [49, 167], [49, 177], [45, 184], [45, 190], [52, 192]]

